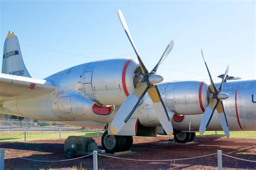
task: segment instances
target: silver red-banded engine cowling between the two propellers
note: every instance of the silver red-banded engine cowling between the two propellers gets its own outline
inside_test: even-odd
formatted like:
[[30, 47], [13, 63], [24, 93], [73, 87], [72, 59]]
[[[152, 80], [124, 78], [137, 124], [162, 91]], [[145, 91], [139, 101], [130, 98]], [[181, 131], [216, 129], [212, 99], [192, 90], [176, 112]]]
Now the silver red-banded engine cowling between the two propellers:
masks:
[[208, 106], [208, 85], [200, 81], [177, 81], [168, 83], [165, 103], [178, 114], [201, 114]]

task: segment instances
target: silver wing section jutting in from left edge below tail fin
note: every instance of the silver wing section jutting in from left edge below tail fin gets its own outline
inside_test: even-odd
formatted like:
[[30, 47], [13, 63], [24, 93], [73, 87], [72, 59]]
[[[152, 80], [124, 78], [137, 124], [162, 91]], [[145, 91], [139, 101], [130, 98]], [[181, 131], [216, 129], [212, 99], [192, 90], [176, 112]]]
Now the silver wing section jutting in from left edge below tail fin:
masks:
[[3, 100], [28, 99], [55, 89], [51, 81], [0, 73], [0, 104]]

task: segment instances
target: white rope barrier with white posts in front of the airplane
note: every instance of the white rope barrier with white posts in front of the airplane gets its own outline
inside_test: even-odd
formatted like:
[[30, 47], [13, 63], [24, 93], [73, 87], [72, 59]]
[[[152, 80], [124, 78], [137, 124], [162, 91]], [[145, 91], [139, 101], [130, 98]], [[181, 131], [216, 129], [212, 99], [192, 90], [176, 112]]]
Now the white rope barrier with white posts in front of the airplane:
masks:
[[130, 159], [130, 158], [119, 158], [119, 157], [113, 157], [110, 155], [105, 155], [105, 154], [98, 154], [97, 151], [93, 151], [92, 154], [89, 155], [85, 155], [83, 157], [78, 157], [78, 158], [73, 158], [73, 159], [64, 159], [64, 160], [36, 160], [36, 159], [29, 159], [29, 158], [22, 158], [22, 157], [17, 157], [17, 155], [13, 155], [10, 153], [5, 153], [4, 149], [1, 149], [1, 155], [0, 155], [0, 170], [4, 169], [4, 155], [8, 154], [12, 157], [16, 157], [19, 159], [23, 159], [23, 160], [29, 160], [29, 161], [37, 161], [37, 162], [62, 162], [62, 161], [72, 161], [72, 160], [76, 160], [76, 159], [81, 159], [81, 158], [85, 158], [85, 157], [90, 157], [91, 155], [93, 155], [93, 170], [97, 170], [98, 169], [98, 155], [102, 156], [102, 157], [108, 157], [108, 158], [112, 158], [112, 159], [122, 159], [122, 160], [127, 160], [127, 161], [147, 161], [147, 162], [170, 162], [170, 161], [179, 161], [179, 160], [188, 160], [188, 159], [197, 159], [197, 158], [203, 158], [203, 157], [210, 157], [213, 155], [217, 154], [217, 162], [218, 162], [218, 169], [222, 169], [222, 156], [225, 157], [230, 157], [233, 159], [238, 159], [238, 160], [242, 160], [242, 161], [248, 161], [248, 162], [254, 162], [256, 163], [256, 161], [254, 160], [247, 160], [247, 159], [241, 159], [241, 158], [237, 158], [237, 157], [232, 157], [230, 155], [227, 154], [223, 154], [221, 150], [218, 150], [217, 153], [212, 153], [212, 154], [207, 154], [207, 155], [200, 155], [197, 157], [190, 157], [190, 158], [181, 158], [181, 159], [165, 159], [165, 160], [146, 160], [146, 159]]

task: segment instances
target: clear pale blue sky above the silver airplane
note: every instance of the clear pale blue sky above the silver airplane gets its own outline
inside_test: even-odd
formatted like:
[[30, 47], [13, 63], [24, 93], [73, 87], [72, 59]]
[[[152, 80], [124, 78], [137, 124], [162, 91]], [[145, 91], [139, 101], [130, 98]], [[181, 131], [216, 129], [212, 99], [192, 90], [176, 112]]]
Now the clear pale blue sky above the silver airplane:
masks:
[[[19, 38], [35, 78], [97, 59], [135, 58], [117, 16], [121, 9], [151, 70], [176, 44], [158, 73], [165, 80], [255, 78], [255, 1], [1, 1], [0, 53], [8, 31]], [[0, 64], [0, 68], [2, 63]]]

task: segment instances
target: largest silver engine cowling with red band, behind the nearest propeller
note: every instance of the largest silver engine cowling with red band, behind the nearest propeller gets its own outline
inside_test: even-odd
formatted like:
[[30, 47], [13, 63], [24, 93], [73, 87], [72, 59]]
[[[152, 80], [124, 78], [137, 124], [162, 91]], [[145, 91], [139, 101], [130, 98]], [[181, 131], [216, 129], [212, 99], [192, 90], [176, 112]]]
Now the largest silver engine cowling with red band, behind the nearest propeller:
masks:
[[111, 59], [90, 63], [83, 74], [87, 97], [102, 105], [121, 105], [134, 91], [137, 60]]

